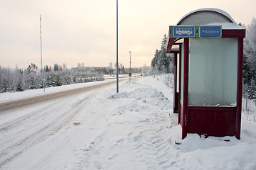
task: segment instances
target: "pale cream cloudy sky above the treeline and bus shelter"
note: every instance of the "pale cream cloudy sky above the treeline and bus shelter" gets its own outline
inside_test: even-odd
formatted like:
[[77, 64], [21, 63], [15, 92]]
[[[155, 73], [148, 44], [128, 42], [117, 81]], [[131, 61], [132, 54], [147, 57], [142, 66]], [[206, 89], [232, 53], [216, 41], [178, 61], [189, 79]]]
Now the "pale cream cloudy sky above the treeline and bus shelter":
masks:
[[[116, 0], [0, 0], [0, 65], [107, 67], [116, 62]], [[220, 8], [237, 23], [256, 17], [255, 0], [119, 0], [119, 63], [149, 66], [169, 26], [198, 8]]]

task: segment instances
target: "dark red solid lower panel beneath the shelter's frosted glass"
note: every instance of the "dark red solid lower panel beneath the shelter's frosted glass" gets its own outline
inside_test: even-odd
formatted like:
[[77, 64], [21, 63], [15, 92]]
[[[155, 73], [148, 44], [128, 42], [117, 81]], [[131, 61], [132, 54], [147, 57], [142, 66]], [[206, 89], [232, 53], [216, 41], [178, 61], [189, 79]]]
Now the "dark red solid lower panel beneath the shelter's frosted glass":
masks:
[[208, 136], [235, 135], [236, 107], [188, 107], [188, 133]]

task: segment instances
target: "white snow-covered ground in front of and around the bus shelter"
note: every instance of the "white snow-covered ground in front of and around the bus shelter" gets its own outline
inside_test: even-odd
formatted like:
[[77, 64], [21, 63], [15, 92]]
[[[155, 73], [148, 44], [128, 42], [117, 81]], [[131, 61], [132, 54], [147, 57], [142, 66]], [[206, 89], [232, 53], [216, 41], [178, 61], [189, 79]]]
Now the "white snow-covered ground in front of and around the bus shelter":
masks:
[[256, 169], [255, 103], [242, 114], [241, 140], [181, 140], [165, 77], [124, 81], [115, 91], [0, 113], [0, 169]]

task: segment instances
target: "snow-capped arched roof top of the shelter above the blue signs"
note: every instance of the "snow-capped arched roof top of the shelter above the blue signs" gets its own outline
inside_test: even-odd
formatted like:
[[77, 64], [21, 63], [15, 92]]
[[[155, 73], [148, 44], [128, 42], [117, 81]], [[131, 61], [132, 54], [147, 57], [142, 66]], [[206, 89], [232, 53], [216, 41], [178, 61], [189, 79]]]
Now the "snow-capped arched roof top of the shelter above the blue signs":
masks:
[[201, 8], [191, 11], [176, 25], [221, 25], [224, 29], [241, 29], [227, 12], [218, 8]]

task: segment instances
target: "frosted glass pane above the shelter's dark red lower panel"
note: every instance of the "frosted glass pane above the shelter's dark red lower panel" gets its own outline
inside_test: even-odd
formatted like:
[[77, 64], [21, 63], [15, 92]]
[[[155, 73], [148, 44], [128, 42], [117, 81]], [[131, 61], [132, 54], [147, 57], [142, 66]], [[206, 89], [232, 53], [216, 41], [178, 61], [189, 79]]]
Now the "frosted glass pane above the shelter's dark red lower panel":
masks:
[[188, 105], [235, 106], [238, 38], [189, 41]]

